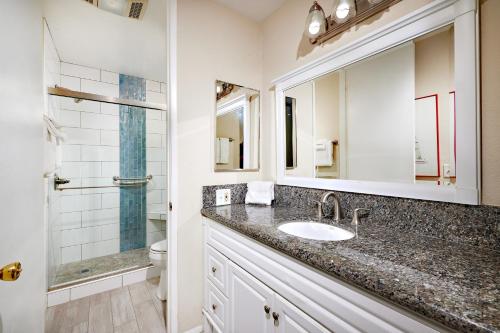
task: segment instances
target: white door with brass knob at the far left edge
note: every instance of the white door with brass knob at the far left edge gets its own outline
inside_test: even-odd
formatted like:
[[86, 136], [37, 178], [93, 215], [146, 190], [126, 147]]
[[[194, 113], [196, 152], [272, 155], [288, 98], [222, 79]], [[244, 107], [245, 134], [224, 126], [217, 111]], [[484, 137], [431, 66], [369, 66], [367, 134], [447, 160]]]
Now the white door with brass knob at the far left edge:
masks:
[[0, 12], [0, 332], [44, 331], [43, 24], [36, 0], [3, 1]]

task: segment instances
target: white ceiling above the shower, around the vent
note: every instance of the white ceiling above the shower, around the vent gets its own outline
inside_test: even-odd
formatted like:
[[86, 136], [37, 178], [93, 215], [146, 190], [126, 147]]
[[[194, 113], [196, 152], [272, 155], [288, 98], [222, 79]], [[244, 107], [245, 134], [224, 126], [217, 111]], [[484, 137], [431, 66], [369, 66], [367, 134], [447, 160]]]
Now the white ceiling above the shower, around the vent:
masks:
[[142, 20], [83, 0], [43, 0], [62, 61], [166, 82], [166, 1], [149, 0]]

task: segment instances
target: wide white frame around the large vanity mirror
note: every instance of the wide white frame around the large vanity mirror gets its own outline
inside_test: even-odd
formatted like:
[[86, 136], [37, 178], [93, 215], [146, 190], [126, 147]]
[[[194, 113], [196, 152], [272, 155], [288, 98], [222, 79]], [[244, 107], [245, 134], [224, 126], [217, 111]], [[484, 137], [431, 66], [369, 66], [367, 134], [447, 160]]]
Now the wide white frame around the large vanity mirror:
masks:
[[[361, 59], [454, 25], [456, 93], [456, 184], [438, 186], [285, 174], [284, 92]], [[277, 184], [403, 198], [480, 203], [479, 34], [476, 0], [436, 0], [385, 27], [341, 47], [272, 83], [276, 94]]]

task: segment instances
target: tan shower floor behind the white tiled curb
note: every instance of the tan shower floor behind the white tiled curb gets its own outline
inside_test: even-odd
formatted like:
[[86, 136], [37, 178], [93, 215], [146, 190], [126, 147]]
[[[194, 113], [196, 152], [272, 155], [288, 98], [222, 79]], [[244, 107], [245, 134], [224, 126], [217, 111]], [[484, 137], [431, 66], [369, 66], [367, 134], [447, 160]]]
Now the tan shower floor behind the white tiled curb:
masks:
[[72, 284], [91, 281], [150, 265], [149, 248], [129, 250], [109, 256], [71, 262], [57, 268], [56, 276], [49, 290], [59, 289]]

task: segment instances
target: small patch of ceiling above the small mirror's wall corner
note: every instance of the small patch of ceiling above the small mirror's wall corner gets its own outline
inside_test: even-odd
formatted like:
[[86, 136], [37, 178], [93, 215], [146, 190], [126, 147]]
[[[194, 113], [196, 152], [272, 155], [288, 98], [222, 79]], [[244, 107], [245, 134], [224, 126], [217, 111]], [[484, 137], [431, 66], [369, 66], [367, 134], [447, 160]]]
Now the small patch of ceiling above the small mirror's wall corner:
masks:
[[240, 14], [254, 20], [262, 21], [281, 7], [286, 0], [215, 0]]

